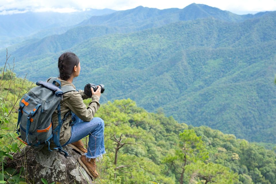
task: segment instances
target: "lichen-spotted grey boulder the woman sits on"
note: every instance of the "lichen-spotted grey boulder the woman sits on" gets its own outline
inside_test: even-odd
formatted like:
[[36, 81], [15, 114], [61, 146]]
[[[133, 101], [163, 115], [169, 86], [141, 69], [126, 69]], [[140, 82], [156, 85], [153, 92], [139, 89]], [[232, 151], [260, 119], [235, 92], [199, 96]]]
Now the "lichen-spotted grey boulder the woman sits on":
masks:
[[[46, 147], [46, 146], [45, 146]], [[81, 156], [78, 152], [65, 146], [64, 150], [71, 157], [48, 149], [35, 150], [30, 146], [25, 146], [21, 153], [14, 154], [14, 161], [8, 167], [20, 168], [24, 166], [27, 183], [42, 183], [41, 178], [45, 178], [48, 183], [93, 183], [91, 177], [78, 163]]]

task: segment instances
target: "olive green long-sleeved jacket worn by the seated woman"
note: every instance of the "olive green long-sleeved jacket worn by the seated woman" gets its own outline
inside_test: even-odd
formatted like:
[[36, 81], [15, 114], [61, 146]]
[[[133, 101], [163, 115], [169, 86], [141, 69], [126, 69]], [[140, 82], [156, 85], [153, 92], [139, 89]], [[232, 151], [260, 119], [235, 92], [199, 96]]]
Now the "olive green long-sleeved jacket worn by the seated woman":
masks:
[[[61, 86], [70, 85], [75, 89], [76, 87], [68, 82], [64, 81], [60, 78], [57, 78], [61, 81]], [[47, 80], [47, 82], [50, 78]], [[89, 106], [86, 108], [83, 103], [83, 99], [88, 99], [89, 97], [84, 94], [83, 90], [78, 91], [70, 91], [68, 93], [63, 94], [63, 99], [60, 101], [60, 110], [61, 110], [61, 118], [64, 118], [64, 115], [72, 110], [81, 120], [83, 121], [91, 121], [100, 107], [99, 99], [97, 95], [92, 95], [92, 101]], [[71, 114], [67, 116], [67, 118], [62, 123], [62, 127], [60, 128], [60, 144], [64, 145], [71, 137], [71, 126], [69, 126], [69, 121], [72, 119]], [[57, 127], [57, 110], [52, 114], [52, 125], [53, 129]]]

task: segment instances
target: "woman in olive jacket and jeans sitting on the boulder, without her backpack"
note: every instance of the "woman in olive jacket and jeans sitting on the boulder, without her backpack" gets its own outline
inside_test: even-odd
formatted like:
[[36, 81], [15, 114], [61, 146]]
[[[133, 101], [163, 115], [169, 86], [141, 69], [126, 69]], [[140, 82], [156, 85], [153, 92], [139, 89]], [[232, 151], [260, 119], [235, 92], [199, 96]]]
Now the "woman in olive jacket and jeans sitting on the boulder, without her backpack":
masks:
[[[71, 52], [65, 52], [58, 58], [58, 68], [60, 76], [57, 78], [61, 81], [61, 86], [71, 85], [75, 77], [79, 76], [81, 64], [78, 56]], [[48, 79], [49, 81], [50, 79]], [[76, 88], [75, 88], [76, 89]], [[99, 99], [101, 96], [101, 87], [97, 91], [91, 88], [92, 96], [84, 94], [82, 90], [64, 93], [60, 101], [61, 117], [67, 112], [73, 113], [65, 117], [60, 129], [60, 144], [68, 145], [78, 152], [84, 154], [78, 161], [85, 168], [87, 173], [96, 179], [99, 174], [96, 171], [96, 160], [102, 158], [105, 154], [104, 147], [104, 121], [101, 118], [93, 118], [100, 107]], [[86, 108], [83, 99], [91, 98], [89, 106]], [[71, 126], [74, 120], [73, 126]], [[53, 129], [57, 127], [58, 118], [55, 111], [52, 115]], [[82, 138], [89, 135], [88, 150], [84, 148]]]

